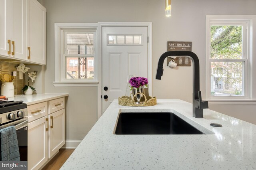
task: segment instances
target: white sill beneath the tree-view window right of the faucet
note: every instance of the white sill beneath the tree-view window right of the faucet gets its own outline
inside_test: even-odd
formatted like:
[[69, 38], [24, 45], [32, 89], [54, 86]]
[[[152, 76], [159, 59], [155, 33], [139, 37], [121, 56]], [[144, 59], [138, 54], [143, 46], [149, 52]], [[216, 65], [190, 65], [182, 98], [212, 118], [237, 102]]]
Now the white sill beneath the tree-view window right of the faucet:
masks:
[[256, 105], [256, 100], [208, 100], [209, 105]]

